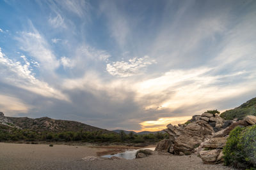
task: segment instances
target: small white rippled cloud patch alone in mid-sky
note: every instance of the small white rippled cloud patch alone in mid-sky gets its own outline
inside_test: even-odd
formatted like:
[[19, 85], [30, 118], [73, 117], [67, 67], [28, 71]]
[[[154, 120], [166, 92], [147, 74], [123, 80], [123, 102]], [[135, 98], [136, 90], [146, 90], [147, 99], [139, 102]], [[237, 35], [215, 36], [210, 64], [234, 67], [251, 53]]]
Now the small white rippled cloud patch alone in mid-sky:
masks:
[[150, 59], [147, 55], [141, 58], [134, 57], [128, 62], [116, 61], [107, 64], [106, 70], [109, 74], [119, 77], [133, 76], [141, 73], [141, 69], [156, 63], [156, 60]]

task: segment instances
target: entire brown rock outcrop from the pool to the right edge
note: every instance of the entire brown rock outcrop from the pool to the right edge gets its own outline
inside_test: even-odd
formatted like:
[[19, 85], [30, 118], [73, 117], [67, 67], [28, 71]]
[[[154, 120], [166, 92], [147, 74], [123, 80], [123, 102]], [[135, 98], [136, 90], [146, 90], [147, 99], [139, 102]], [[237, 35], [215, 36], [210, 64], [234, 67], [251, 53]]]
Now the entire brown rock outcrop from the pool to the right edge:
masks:
[[198, 152], [205, 164], [223, 161], [222, 149], [227, 143], [228, 134], [235, 127], [255, 125], [255, 116], [246, 116], [244, 120], [224, 120], [218, 115], [203, 113], [195, 115], [185, 124], [168, 124], [164, 129], [170, 136], [156, 146], [156, 151], [175, 155], [188, 155]]

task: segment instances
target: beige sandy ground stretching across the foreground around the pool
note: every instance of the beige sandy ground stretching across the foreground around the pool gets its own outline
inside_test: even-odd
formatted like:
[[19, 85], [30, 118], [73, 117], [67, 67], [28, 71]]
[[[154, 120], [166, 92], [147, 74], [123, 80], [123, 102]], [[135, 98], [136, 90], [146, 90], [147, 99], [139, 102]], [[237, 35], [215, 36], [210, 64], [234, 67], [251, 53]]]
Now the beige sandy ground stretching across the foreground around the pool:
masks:
[[109, 150], [111, 152], [113, 148], [0, 143], [0, 169], [230, 169], [203, 164], [196, 155], [150, 155], [143, 159], [92, 162], [82, 160], [83, 157], [97, 157], [97, 152]]

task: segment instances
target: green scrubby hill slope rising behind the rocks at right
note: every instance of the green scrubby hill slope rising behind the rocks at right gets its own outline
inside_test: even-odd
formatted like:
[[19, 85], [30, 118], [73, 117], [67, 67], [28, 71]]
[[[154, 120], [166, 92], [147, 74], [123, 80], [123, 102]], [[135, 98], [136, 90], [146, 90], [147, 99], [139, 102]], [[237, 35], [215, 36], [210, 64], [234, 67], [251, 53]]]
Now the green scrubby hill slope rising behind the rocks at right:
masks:
[[232, 110], [227, 110], [221, 113], [220, 117], [225, 120], [233, 120], [238, 118], [239, 120], [246, 117], [246, 115], [256, 116], [256, 97], [246, 101], [246, 103], [241, 104], [241, 106], [234, 108]]

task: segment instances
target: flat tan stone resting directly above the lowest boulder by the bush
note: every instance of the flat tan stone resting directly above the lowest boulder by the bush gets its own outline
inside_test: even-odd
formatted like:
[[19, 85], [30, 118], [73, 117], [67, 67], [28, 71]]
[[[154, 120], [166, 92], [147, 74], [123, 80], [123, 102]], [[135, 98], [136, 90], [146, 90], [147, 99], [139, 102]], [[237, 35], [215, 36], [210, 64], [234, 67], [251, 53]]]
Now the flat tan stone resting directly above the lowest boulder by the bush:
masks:
[[202, 143], [203, 148], [223, 148], [227, 143], [227, 137], [211, 138]]

